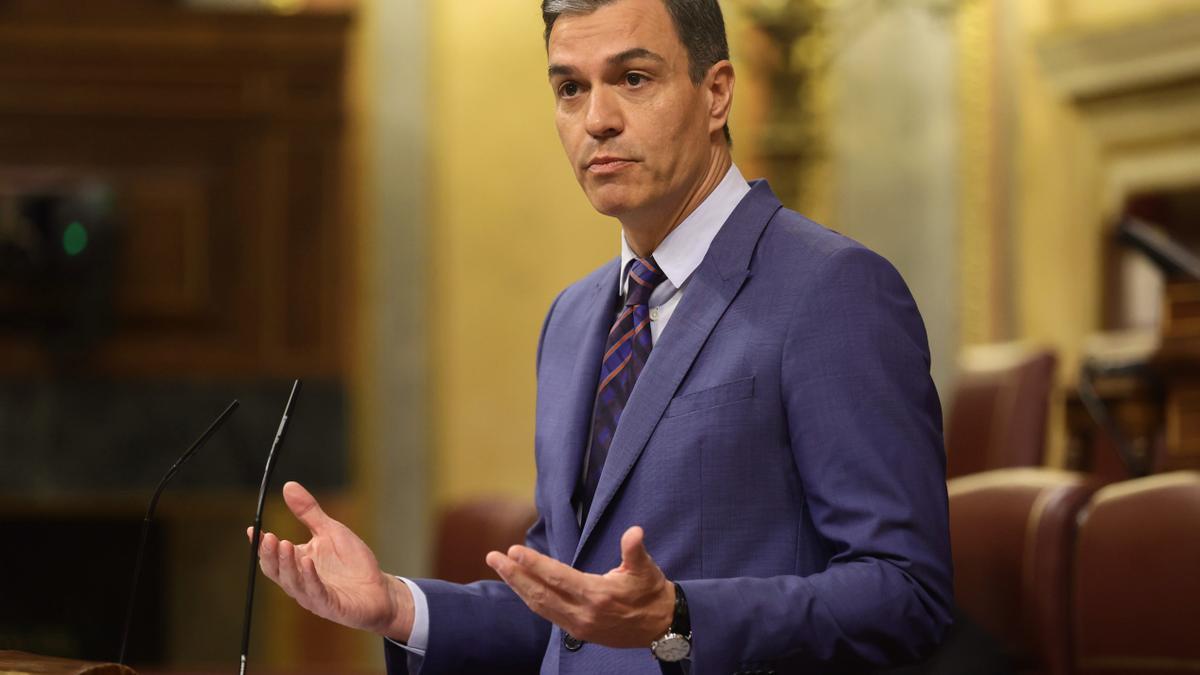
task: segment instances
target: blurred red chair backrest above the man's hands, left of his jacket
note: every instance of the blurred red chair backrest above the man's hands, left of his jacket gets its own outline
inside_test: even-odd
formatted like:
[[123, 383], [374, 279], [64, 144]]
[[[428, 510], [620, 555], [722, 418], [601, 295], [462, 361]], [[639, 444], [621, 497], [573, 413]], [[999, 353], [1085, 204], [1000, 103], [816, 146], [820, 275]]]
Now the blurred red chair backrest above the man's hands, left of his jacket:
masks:
[[511, 497], [479, 497], [452, 504], [438, 518], [434, 577], [457, 584], [498, 579], [484, 557], [488, 551], [523, 544], [526, 530], [536, 519], [533, 502]]

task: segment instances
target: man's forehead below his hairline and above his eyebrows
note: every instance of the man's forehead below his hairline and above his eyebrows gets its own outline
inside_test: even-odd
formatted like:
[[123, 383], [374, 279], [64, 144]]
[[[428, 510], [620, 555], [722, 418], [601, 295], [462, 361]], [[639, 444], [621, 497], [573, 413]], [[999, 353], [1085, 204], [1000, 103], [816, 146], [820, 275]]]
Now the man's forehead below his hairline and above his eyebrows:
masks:
[[662, 0], [617, 0], [589, 14], [563, 14], [550, 32], [551, 64], [581, 65], [630, 49], [671, 59], [683, 53]]

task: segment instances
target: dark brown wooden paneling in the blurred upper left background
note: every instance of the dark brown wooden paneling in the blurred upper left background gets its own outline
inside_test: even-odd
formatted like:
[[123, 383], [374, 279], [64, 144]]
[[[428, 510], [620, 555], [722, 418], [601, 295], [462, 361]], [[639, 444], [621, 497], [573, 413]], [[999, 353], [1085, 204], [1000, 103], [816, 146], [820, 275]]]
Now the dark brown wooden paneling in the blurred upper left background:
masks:
[[[0, 192], [92, 181], [114, 198], [112, 316], [73, 370], [342, 374], [348, 26], [0, 0]], [[23, 300], [36, 294], [0, 275], [0, 313]], [[61, 359], [28, 322], [0, 327], [0, 375]]]

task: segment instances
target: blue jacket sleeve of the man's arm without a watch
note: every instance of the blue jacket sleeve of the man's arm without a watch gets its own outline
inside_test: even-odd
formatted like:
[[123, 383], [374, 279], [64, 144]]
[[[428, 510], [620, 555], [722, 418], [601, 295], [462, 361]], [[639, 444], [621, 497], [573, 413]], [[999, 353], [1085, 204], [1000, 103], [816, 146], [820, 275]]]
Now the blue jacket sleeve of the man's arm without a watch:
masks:
[[[562, 294], [559, 294], [562, 298]], [[538, 366], [550, 317], [546, 312], [538, 339]], [[526, 534], [526, 545], [542, 554], [546, 522], [538, 518]], [[439, 675], [443, 673], [536, 673], [550, 640], [550, 622], [529, 610], [506, 584], [476, 581], [460, 585], [437, 579], [418, 579], [430, 610], [430, 643], [420, 659], [420, 673], [409, 673], [408, 651], [384, 640], [389, 675]]]

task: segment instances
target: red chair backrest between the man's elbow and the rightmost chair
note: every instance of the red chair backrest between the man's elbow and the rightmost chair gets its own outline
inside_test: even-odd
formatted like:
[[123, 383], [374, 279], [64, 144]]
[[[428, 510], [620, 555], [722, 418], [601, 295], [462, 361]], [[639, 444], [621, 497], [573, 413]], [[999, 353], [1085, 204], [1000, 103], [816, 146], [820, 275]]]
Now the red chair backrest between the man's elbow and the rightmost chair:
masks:
[[1070, 554], [1092, 479], [1007, 468], [952, 479], [947, 489], [960, 611], [1018, 670], [1070, 673]]

